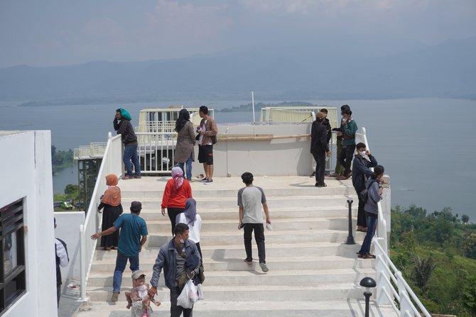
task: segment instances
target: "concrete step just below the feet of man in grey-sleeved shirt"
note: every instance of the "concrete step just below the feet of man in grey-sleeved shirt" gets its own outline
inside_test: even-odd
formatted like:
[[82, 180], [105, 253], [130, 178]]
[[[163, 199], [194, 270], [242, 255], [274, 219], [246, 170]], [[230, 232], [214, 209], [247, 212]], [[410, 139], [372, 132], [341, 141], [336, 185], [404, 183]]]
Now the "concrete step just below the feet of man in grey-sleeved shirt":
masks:
[[[318, 284], [330, 284], [330, 283], [345, 283], [370, 276], [374, 274], [372, 269], [358, 269], [357, 272], [355, 269], [345, 268], [345, 269], [285, 269], [281, 267], [275, 270], [268, 265], [269, 272], [264, 274], [261, 272], [261, 268], [256, 265], [255, 270], [247, 269], [243, 271], [212, 271], [207, 270], [205, 274], [205, 283], [207, 287], [216, 286], [220, 287], [221, 285], [237, 285], [244, 286], [249, 285], [254, 287], [256, 285], [282, 285], [282, 284], [300, 284], [300, 285], [318, 285]], [[152, 267], [144, 267], [142, 265], [143, 271], [148, 277], [146, 280], [149, 281], [152, 276]], [[159, 279], [159, 286], [165, 287], [163, 281], [163, 275]], [[90, 287], [108, 287], [112, 285], [112, 272], [94, 272], [90, 274]], [[131, 274], [126, 272], [122, 277], [122, 285], [124, 287], [131, 287]]]

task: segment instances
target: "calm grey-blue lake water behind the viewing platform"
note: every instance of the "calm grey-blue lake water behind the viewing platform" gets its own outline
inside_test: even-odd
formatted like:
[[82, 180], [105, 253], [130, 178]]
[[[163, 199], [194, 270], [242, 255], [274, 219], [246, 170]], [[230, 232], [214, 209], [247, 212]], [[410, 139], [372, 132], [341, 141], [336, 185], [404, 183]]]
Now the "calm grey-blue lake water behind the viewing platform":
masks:
[[[139, 110], [168, 104], [215, 109], [249, 101], [176, 101], [121, 105], [137, 124]], [[256, 101], [258, 102], [258, 101]], [[277, 103], [280, 101], [264, 101]], [[372, 154], [391, 177], [392, 205], [416, 204], [428, 212], [443, 207], [476, 221], [472, 195], [476, 193], [476, 142], [473, 138], [476, 101], [460, 99], [392, 99], [310, 101], [340, 107], [349, 104], [357, 126], [367, 128]], [[21, 102], [0, 102], [0, 130], [51, 130], [58, 150], [107, 140], [117, 104], [20, 107]], [[250, 122], [251, 113], [215, 113], [219, 123]], [[256, 120], [259, 113], [256, 114]], [[54, 191], [77, 183], [76, 167], [53, 177]]]

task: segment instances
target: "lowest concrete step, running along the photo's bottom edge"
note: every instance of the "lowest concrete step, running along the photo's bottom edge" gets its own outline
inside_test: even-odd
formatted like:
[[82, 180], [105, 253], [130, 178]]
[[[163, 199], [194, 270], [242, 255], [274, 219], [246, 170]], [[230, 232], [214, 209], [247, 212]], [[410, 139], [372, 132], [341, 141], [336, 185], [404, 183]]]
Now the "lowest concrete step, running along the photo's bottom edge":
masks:
[[[363, 291], [363, 290], [362, 290]], [[75, 316], [87, 317], [129, 317], [131, 312], [126, 309], [126, 304], [118, 302], [93, 302], [86, 306], [86, 311], [80, 311]], [[170, 308], [169, 301], [161, 301], [161, 306], [153, 306], [154, 314], [166, 315]], [[364, 300], [347, 301], [198, 301], [193, 307], [197, 316], [207, 317], [243, 317], [258, 315], [260, 317], [349, 317], [364, 316]], [[109, 315], [110, 313], [110, 315]], [[374, 296], [371, 297], [370, 316], [397, 316], [391, 306], [377, 307]]]

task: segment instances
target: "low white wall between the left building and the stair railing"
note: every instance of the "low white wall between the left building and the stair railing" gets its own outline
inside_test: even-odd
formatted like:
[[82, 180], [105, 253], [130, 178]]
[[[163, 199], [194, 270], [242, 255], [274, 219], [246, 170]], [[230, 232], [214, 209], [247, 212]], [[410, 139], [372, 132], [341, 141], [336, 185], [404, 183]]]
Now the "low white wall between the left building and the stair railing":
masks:
[[55, 237], [66, 243], [67, 254], [70, 257], [67, 267], [61, 267], [61, 277], [65, 286], [69, 279], [79, 281], [81, 278], [80, 225], [85, 223], [85, 212], [58, 211], [55, 212], [55, 218]]

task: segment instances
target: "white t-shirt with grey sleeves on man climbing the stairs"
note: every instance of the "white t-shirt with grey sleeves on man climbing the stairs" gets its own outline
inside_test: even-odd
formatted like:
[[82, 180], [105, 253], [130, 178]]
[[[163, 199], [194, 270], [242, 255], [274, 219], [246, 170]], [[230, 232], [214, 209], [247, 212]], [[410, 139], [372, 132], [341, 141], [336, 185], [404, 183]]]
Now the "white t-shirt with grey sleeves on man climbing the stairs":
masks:
[[261, 187], [243, 187], [238, 191], [238, 206], [243, 207], [243, 223], [263, 223], [262, 204], [266, 196]]

